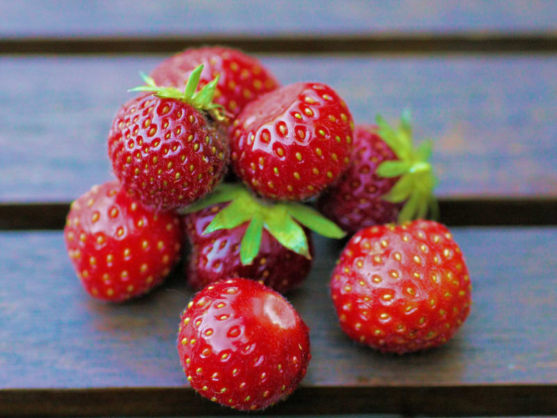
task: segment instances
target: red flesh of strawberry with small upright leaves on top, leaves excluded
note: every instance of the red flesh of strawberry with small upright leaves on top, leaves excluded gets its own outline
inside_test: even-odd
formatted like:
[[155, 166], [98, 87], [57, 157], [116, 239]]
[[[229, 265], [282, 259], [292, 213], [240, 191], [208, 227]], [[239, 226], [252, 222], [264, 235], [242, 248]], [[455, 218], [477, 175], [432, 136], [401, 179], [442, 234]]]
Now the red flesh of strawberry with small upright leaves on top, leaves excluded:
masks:
[[222, 127], [190, 104], [152, 94], [118, 110], [108, 148], [123, 187], [157, 209], [201, 198], [219, 183], [228, 162]]

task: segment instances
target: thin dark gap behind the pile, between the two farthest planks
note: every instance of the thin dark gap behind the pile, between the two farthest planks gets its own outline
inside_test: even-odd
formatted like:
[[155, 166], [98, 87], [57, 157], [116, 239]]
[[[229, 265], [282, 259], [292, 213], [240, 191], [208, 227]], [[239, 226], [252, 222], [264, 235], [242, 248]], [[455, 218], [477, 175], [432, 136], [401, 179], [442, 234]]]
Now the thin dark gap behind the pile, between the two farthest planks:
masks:
[[551, 53], [557, 33], [448, 35], [206, 36], [0, 38], [0, 54], [165, 54], [187, 47], [227, 45], [253, 53]]

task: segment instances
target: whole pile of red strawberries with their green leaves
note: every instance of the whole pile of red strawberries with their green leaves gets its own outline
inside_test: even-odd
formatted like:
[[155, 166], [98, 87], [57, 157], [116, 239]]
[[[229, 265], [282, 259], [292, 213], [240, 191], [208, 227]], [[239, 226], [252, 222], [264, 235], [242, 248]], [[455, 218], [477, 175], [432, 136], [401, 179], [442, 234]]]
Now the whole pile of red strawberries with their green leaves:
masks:
[[395, 129], [380, 117], [354, 126], [331, 87], [281, 87], [223, 47], [188, 49], [143, 79], [109, 130], [118, 180], [72, 203], [64, 237], [86, 291], [110, 302], [161, 284], [189, 248], [184, 274], [200, 291], [178, 352], [196, 391], [257, 410], [299, 385], [308, 328], [281, 293], [319, 256], [311, 231], [354, 234], [330, 282], [352, 339], [402, 354], [462, 325], [462, 253], [441, 224], [410, 221], [436, 206], [431, 146], [414, 148], [409, 115]]

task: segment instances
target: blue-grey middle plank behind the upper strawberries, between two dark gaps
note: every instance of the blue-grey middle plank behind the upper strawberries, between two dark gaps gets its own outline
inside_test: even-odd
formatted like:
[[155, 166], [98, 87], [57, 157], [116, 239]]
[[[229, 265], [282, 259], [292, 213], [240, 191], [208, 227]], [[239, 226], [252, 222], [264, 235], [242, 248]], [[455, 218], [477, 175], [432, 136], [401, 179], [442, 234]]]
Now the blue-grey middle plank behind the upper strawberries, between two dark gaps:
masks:
[[[356, 123], [414, 111], [436, 140], [437, 194], [557, 193], [555, 56], [260, 56], [281, 82], [316, 80]], [[1, 57], [0, 201], [71, 201], [111, 178], [106, 137], [139, 70], [161, 56]], [[33, 100], [29, 100], [29, 98]]]

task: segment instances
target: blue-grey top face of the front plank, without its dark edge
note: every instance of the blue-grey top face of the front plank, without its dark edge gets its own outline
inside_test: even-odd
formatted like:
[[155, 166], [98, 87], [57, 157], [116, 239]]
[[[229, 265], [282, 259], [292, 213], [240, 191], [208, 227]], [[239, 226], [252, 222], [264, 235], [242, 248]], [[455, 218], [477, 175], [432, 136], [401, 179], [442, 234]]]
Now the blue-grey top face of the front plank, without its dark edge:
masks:
[[[401, 357], [340, 331], [327, 286], [340, 245], [316, 240], [311, 276], [289, 295], [311, 328], [304, 387], [557, 388], [557, 229], [453, 232], [471, 274], [471, 315], [445, 346]], [[0, 247], [0, 397], [8, 388], [187, 386], [175, 339], [191, 291], [180, 274], [143, 299], [104, 304], [81, 289], [61, 232], [0, 233]]]

